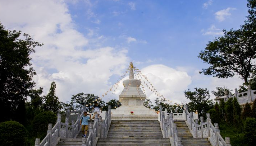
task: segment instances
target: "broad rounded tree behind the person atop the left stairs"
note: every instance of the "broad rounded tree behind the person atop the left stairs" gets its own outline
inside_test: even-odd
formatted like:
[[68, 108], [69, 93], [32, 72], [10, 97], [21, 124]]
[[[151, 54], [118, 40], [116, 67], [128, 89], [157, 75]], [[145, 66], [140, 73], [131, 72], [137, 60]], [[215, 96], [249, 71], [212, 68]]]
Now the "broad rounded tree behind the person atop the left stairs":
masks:
[[100, 107], [105, 105], [105, 102], [102, 101], [99, 96], [89, 93], [78, 93], [77, 95], [72, 95], [71, 102], [75, 104], [76, 109], [83, 109], [83, 105], [85, 105], [87, 112], [92, 112], [94, 102], [97, 102]]

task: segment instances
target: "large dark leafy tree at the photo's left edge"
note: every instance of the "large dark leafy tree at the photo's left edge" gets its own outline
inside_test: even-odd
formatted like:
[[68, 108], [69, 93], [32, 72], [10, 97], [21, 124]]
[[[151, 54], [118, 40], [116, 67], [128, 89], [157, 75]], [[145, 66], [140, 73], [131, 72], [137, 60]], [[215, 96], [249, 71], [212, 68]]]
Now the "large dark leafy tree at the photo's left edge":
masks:
[[13, 119], [18, 112], [17, 105], [27, 100], [29, 90], [35, 86], [32, 77], [36, 72], [29, 55], [42, 44], [28, 34], [20, 39], [20, 34], [20, 31], [5, 30], [0, 23], [0, 111], [5, 111], [0, 121]]

